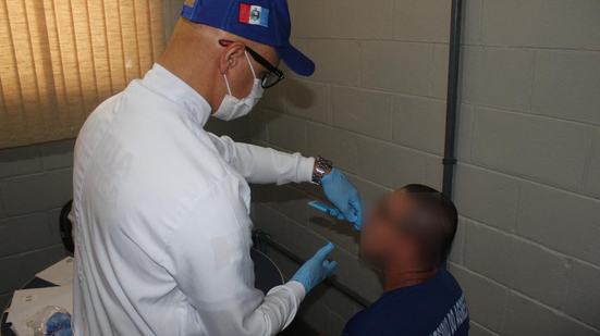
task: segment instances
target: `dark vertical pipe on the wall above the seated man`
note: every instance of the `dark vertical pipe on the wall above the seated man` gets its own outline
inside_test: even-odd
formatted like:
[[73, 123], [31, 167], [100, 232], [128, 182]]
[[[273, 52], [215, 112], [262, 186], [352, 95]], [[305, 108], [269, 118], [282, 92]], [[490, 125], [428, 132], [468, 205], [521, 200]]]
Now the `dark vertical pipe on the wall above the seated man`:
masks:
[[456, 141], [456, 110], [458, 100], [458, 75], [461, 65], [461, 27], [463, 16], [463, 0], [452, 0], [452, 17], [450, 25], [450, 57], [448, 71], [448, 98], [445, 115], [445, 144], [443, 158], [442, 192], [452, 198], [454, 165], [456, 158], [454, 145]]

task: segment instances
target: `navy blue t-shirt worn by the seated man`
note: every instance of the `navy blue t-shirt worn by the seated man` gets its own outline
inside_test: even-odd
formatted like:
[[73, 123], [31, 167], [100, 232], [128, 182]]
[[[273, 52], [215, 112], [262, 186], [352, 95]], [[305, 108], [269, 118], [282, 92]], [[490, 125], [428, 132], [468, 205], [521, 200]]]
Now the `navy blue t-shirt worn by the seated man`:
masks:
[[463, 290], [440, 269], [428, 282], [384, 293], [348, 321], [343, 336], [467, 336], [468, 329]]

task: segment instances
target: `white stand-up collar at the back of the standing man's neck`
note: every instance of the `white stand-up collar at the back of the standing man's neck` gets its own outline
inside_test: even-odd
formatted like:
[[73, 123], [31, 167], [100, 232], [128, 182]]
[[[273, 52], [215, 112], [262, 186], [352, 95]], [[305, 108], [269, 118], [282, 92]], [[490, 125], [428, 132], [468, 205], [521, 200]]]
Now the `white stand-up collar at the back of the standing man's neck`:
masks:
[[212, 108], [204, 97], [162, 65], [155, 63], [144, 76], [144, 83], [172, 102], [188, 110], [196, 122], [204, 127]]

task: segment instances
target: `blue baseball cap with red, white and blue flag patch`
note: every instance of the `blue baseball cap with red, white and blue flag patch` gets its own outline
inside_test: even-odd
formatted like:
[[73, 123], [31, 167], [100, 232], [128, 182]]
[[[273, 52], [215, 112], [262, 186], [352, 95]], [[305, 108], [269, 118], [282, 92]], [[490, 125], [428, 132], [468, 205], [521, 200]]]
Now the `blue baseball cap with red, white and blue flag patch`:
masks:
[[195, 0], [181, 16], [275, 48], [281, 60], [301, 76], [315, 63], [290, 43], [292, 21], [286, 0]]

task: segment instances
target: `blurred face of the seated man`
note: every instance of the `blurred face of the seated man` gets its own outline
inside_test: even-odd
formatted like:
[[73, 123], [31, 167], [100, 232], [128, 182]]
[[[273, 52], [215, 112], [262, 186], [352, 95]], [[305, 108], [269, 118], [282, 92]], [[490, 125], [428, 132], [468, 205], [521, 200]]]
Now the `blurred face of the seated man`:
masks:
[[375, 203], [360, 234], [363, 256], [379, 266], [417, 258], [416, 240], [405, 229], [415, 212], [414, 203], [402, 189]]

